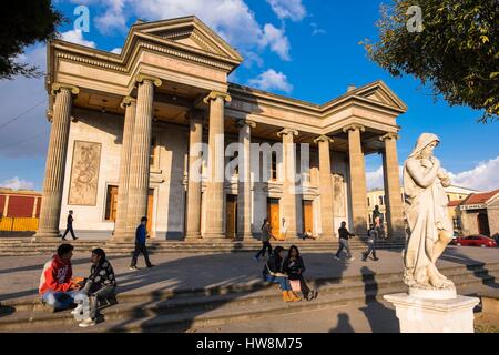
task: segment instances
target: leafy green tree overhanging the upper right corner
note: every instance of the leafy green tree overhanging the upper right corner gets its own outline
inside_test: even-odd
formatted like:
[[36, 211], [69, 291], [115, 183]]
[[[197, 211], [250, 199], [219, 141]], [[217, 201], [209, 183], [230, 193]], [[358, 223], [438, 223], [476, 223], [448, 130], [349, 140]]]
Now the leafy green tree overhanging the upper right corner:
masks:
[[413, 74], [450, 105], [498, 120], [499, 0], [393, 0], [377, 27], [379, 41], [363, 44], [391, 75]]

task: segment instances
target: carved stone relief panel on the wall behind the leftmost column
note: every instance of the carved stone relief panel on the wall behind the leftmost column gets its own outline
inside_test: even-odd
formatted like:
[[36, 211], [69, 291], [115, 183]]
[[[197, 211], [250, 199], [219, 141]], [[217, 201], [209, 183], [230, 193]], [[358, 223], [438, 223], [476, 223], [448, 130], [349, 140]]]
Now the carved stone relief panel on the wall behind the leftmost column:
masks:
[[74, 141], [68, 204], [96, 205], [101, 143]]

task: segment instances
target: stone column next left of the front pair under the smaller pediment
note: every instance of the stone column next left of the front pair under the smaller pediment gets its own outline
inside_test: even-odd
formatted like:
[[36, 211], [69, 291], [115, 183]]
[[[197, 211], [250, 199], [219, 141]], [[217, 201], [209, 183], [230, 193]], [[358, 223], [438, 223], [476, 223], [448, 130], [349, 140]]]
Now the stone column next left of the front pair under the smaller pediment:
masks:
[[333, 239], [334, 210], [333, 210], [333, 176], [330, 174], [329, 143], [333, 140], [320, 135], [314, 140], [319, 150], [319, 193], [320, 193], [320, 222], [323, 234], [320, 239]]

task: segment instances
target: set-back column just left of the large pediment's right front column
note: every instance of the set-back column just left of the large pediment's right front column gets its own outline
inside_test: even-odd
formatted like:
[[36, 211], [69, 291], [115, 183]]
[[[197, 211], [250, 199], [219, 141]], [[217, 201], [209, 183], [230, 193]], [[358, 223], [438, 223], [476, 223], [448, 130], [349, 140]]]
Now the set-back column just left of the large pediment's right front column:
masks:
[[189, 173], [187, 173], [187, 209], [185, 239], [201, 237], [201, 189], [202, 189], [202, 146], [203, 143], [203, 114], [202, 111], [190, 111], [189, 135]]

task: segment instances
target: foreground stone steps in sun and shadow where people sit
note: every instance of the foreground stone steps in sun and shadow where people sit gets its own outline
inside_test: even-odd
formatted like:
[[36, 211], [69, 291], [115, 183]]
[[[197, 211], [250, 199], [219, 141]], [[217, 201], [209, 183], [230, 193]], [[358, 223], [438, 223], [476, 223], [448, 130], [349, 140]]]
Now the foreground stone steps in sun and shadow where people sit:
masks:
[[[476, 294], [485, 285], [496, 285], [499, 263], [456, 265], [440, 271], [455, 282], [460, 294]], [[104, 322], [85, 329], [78, 327], [69, 311], [51, 313], [43, 310], [38, 298], [3, 302], [0, 332], [189, 332], [330, 307], [369, 305], [379, 302], [384, 294], [405, 292], [401, 276], [401, 272], [395, 272], [313, 280], [309, 286], [319, 291], [319, 297], [291, 304], [282, 302], [276, 285], [263, 282], [125, 292], [118, 295], [118, 304], [101, 311]]]

